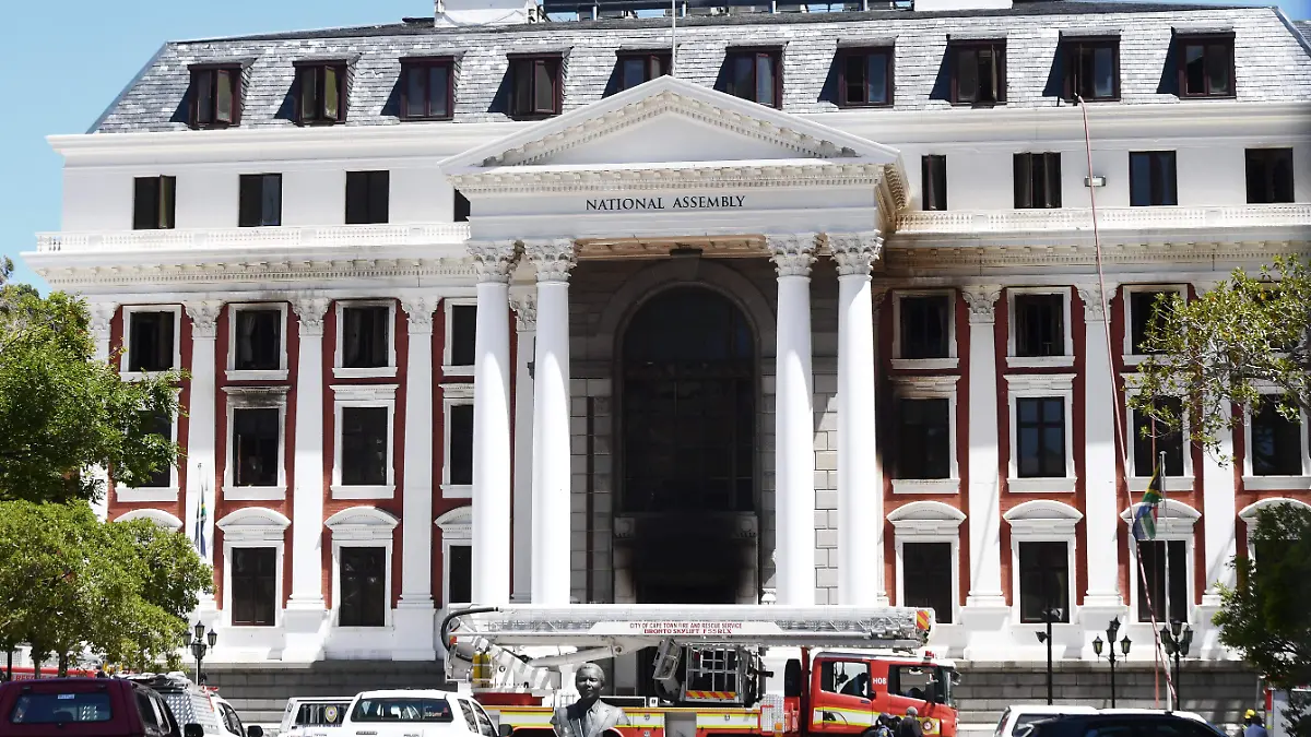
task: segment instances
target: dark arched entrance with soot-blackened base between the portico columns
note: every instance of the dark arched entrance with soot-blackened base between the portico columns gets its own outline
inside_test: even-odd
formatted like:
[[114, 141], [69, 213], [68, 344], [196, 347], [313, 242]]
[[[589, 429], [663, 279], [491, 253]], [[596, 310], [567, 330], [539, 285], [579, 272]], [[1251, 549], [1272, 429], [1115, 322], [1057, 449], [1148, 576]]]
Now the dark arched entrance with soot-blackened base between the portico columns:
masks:
[[756, 367], [746, 316], [703, 286], [654, 295], [624, 330], [616, 514], [638, 602], [754, 597]]

